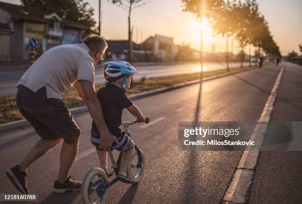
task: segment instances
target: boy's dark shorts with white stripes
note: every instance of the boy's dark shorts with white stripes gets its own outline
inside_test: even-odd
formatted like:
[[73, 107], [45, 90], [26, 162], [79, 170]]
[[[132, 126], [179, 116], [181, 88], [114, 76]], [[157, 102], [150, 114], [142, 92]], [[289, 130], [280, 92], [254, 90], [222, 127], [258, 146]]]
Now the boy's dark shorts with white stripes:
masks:
[[[90, 140], [91, 140], [91, 143], [98, 148], [98, 146], [100, 145], [100, 142], [101, 142], [100, 137], [98, 137], [98, 135], [91, 134]], [[113, 142], [112, 147], [113, 147], [113, 149], [116, 149], [118, 151], [124, 151], [124, 150], [128, 149], [132, 142], [131, 138], [125, 132], [123, 132], [122, 136], [117, 138], [117, 140], [118, 140], [118, 144]]]

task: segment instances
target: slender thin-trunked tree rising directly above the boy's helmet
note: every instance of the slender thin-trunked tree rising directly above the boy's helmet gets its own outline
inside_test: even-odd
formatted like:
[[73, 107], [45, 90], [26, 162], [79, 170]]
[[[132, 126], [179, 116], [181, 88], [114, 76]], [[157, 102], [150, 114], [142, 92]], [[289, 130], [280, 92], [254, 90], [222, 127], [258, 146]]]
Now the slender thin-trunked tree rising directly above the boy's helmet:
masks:
[[124, 9], [128, 12], [128, 60], [129, 60], [130, 64], [133, 64], [133, 62], [132, 62], [131, 11], [135, 8], [146, 5], [148, 2], [151, 2], [151, 1], [141, 2], [141, 4], [137, 5], [137, 6], [133, 6], [133, 5], [136, 3], [139, 3], [142, 0], [107, 0], [107, 1], [111, 1], [113, 4], [117, 4], [119, 7], [121, 7], [122, 9]]

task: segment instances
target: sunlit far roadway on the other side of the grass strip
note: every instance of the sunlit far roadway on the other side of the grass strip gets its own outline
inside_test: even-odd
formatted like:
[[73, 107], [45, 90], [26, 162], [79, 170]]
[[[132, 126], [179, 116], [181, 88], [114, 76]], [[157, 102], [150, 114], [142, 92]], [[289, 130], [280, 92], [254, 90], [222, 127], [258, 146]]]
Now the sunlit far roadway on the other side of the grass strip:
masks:
[[[244, 66], [248, 65], [248, 62], [244, 62]], [[229, 63], [229, 67], [239, 67], [240, 63], [232, 62]], [[135, 75], [135, 79], [141, 77], [151, 78], [159, 76], [171, 76], [179, 74], [189, 74], [200, 72], [199, 63], [183, 63], [183, 64], [164, 64], [164, 65], [145, 65], [136, 66], [139, 74]], [[204, 63], [203, 70], [211, 71], [218, 69], [226, 69], [226, 63]], [[24, 74], [23, 71], [11, 71], [11, 72], [0, 72], [0, 97], [15, 95], [17, 92], [16, 84]], [[100, 66], [95, 69], [95, 84], [105, 84], [103, 76], [103, 70]]]

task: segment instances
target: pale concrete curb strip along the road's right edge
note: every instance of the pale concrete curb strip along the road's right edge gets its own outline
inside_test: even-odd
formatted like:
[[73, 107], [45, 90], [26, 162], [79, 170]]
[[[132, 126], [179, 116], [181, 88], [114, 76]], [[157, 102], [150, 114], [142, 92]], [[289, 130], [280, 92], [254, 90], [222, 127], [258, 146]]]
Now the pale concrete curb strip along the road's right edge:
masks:
[[[263, 112], [250, 136], [250, 140], [255, 141], [256, 144], [259, 144], [260, 147], [262, 146], [264, 141], [267, 122], [270, 120], [270, 116], [273, 110], [273, 104], [276, 99], [277, 89], [280, 84], [283, 68], [284, 64], [282, 64], [275, 84], [266, 100]], [[227, 204], [227, 202], [245, 204], [248, 201], [259, 154], [259, 149], [250, 151], [249, 147], [245, 148], [236, 167], [235, 173], [227, 187], [227, 191], [223, 199], [224, 204]]]

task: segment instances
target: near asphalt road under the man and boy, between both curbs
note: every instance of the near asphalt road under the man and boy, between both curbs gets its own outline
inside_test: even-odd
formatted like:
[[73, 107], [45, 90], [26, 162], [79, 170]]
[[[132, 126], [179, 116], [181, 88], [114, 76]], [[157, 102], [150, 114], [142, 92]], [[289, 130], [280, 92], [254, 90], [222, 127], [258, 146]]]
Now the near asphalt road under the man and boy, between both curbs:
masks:
[[[136, 185], [115, 183], [109, 189], [107, 203], [219, 204], [242, 152], [180, 151], [178, 121], [257, 121], [279, 70], [280, 66], [268, 66], [135, 100], [144, 115], [158, 121], [147, 128], [140, 128], [140, 124], [130, 128], [133, 140], [146, 154], [145, 177]], [[99, 161], [89, 140], [89, 114], [76, 115], [75, 119], [82, 135], [70, 174], [82, 179]], [[125, 111], [123, 120], [130, 119], [133, 117]], [[0, 136], [1, 193], [17, 193], [5, 171], [16, 165], [37, 140], [31, 127]], [[30, 167], [30, 191], [38, 194], [42, 204], [81, 203], [79, 192], [52, 193], [59, 150], [60, 145]]]

